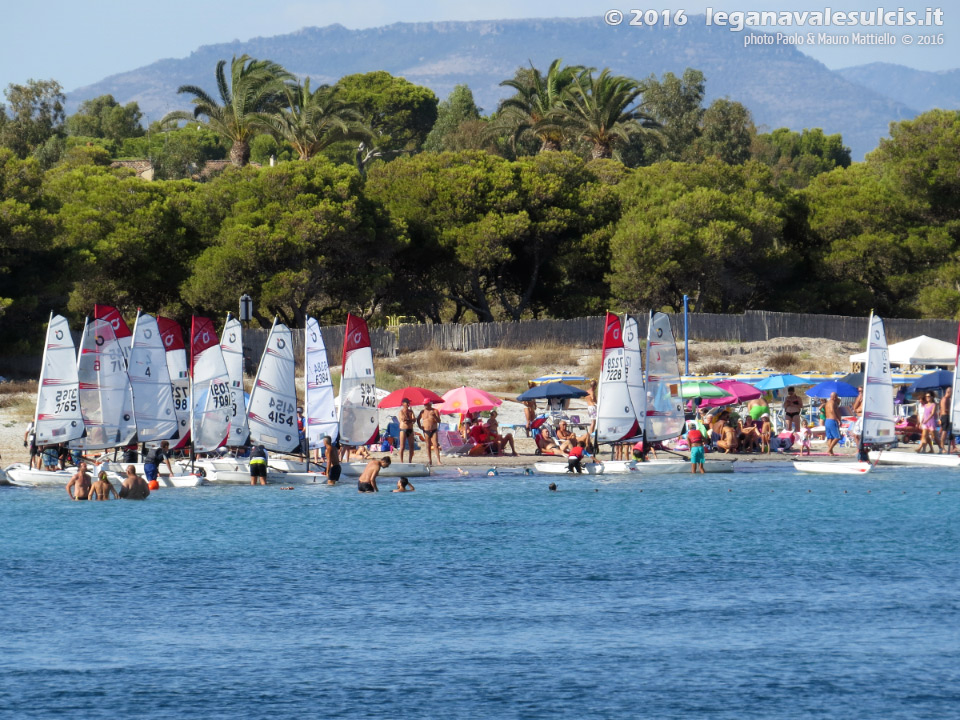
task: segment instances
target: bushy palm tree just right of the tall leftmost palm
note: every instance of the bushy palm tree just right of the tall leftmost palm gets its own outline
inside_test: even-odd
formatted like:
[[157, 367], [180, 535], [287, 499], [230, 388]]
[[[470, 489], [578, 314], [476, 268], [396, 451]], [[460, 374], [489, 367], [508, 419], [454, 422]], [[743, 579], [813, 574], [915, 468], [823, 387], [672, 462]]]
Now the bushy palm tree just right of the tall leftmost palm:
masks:
[[270, 126], [293, 145], [301, 160], [309, 160], [332, 143], [366, 140], [373, 135], [360, 112], [340, 100], [337, 92], [336, 86], [329, 85], [310, 92], [310, 78], [302, 85], [287, 86], [287, 107], [271, 118]]

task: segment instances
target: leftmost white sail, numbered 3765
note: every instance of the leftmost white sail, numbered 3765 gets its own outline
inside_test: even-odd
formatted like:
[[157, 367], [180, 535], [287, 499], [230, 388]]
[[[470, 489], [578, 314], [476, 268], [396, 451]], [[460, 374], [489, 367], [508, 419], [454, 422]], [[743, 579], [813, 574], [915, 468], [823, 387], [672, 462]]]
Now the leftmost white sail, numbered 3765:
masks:
[[70, 325], [65, 317], [51, 313], [34, 415], [38, 446], [68, 442], [83, 435], [78, 387], [77, 351]]

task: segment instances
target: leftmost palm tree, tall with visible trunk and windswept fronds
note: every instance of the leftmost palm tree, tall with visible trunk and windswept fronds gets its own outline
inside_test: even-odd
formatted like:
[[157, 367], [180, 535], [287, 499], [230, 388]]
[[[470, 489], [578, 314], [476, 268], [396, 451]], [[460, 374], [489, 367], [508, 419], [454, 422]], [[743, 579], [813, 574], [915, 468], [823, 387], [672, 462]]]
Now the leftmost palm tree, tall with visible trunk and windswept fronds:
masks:
[[255, 60], [249, 55], [234, 56], [230, 62], [230, 83], [224, 68], [227, 61], [217, 63], [218, 104], [196, 85], [181, 85], [178, 93], [193, 95], [193, 112], [177, 110], [166, 115], [168, 120], [207, 119], [211, 130], [231, 143], [230, 162], [243, 167], [250, 161], [250, 140], [269, 127], [269, 115], [283, 106], [286, 82], [293, 75], [270, 60]]

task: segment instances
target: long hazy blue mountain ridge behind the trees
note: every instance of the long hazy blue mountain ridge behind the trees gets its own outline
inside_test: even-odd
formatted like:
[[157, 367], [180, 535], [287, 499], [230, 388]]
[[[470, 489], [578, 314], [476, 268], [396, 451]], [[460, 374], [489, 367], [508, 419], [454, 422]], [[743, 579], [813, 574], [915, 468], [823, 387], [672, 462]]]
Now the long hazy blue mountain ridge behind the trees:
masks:
[[[202, 45], [185, 58], [165, 58], [116, 73], [68, 95], [70, 112], [109, 93], [137, 101], [148, 121], [188, 107], [176, 88], [214, 88], [217, 61], [247, 53], [280, 63], [314, 84], [358, 72], [386, 70], [430, 87], [444, 99], [467, 83], [485, 112], [507, 95], [502, 80], [533, 62], [610, 67], [644, 79], [687, 67], [706, 75], [707, 102], [729, 97], [746, 105], [760, 128], [823, 128], [842, 133], [855, 158], [873, 149], [889, 123], [917, 114], [908, 103], [832, 71], [789, 45], [743, 47], [743, 34], [706, 26], [702, 15], [683, 27], [609, 27], [599, 18], [394, 23], [351, 30], [340, 24]], [[924, 108], [921, 108], [924, 109]]]

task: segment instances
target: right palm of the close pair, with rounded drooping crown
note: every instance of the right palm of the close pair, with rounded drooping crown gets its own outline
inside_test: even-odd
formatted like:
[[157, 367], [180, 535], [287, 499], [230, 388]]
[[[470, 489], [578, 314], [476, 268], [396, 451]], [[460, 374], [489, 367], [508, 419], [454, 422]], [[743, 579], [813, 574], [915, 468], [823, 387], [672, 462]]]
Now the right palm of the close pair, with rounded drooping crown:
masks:
[[613, 157], [617, 145], [636, 135], [653, 134], [657, 124], [634, 105], [640, 84], [632, 78], [611, 75], [605, 68], [596, 77], [580, 73], [567, 88], [567, 103], [554, 113], [554, 123], [577, 140], [593, 145], [594, 159]]

